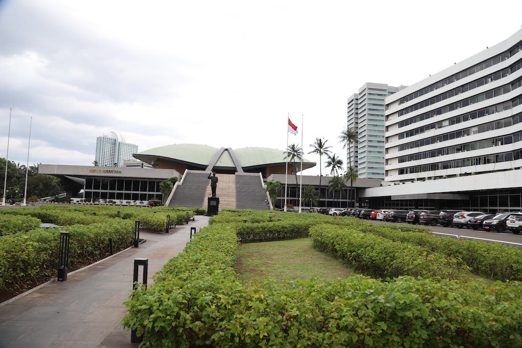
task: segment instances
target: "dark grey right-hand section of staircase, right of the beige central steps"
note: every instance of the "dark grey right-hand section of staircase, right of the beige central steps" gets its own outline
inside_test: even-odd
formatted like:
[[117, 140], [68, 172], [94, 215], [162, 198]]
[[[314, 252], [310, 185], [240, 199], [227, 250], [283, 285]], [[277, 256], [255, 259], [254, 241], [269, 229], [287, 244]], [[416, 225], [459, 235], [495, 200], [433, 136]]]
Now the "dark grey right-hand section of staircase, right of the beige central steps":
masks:
[[236, 208], [269, 210], [259, 173], [235, 174]]

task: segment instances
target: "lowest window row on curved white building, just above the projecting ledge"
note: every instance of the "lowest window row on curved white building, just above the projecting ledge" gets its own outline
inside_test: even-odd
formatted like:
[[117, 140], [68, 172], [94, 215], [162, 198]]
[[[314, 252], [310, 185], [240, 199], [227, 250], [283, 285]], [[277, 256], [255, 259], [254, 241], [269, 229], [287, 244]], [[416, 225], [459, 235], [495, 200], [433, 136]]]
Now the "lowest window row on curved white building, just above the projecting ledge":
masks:
[[411, 173], [422, 173], [443, 169], [467, 167], [470, 165], [480, 165], [489, 163], [500, 163], [505, 161], [519, 160], [522, 155], [522, 150], [516, 150], [513, 152], [503, 152], [497, 154], [489, 154], [473, 158], [465, 158], [461, 160], [453, 160], [432, 164], [416, 165], [408, 168], [399, 169], [400, 174], [411, 174]]

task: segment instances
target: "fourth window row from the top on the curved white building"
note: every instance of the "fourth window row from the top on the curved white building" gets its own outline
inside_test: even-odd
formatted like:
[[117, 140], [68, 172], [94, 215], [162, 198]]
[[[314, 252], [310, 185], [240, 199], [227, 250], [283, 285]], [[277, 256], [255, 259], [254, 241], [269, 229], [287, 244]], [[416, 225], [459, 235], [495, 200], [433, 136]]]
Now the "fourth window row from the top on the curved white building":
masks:
[[415, 128], [412, 130], [408, 130], [404, 133], [400, 133], [399, 139], [409, 138], [414, 135], [425, 133], [426, 131], [429, 131], [431, 129], [439, 129], [439, 128], [447, 127], [447, 126], [454, 125], [454, 124], [457, 124], [460, 122], [466, 122], [466, 121], [469, 121], [470, 119], [480, 118], [480, 117], [494, 114], [496, 112], [513, 109], [513, 107], [516, 107], [518, 105], [522, 105], [522, 96], [513, 98], [512, 100], [508, 100], [503, 103], [484, 107], [484, 109], [479, 109], [476, 111], [468, 112], [466, 114], [444, 119], [443, 121], [440, 121], [437, 123], [432, 123], [432, 124], [426, 125], [424, 127], [419, 127], [419, 128]]

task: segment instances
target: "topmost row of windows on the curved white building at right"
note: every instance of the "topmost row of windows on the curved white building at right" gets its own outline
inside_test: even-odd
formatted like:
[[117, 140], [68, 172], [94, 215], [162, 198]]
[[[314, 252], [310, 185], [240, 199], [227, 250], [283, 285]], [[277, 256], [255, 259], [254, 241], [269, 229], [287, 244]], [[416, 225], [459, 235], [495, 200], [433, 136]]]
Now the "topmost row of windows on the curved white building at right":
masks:
[[505, 61], [507, 58], [512, 57], [520, 50], [522, 50], [522, 41], [518, 42], [516, 45], [511, 47], [511, 49], [504, 51], [501, 54], [497, 54], [496, 56], [489, 58], [483, 62], [480, 62], [479, 64], [473, 65], [472, 67], [467, 68], [466, 70], [459, 71], [459, 73], [455, 75], [449, 76], [443, 80], [432, 83], [432, 85], [424, 87], [423, 89], [415, 91], [411, 94], [408, 94], [406, 95], [406, 97], [402, 97], [401, 99], [399, 99], [399, 105], [413, 100], [415, 98], [421, 97], [422, 95], [434, 91], [443, 86], [446, 86], [449, 83], [458, 81], [474, 73], [478, 73], [478, 71], [484, 70], [485, 68], [489, 68], [490, 66], [499, 64], [500, 62]]

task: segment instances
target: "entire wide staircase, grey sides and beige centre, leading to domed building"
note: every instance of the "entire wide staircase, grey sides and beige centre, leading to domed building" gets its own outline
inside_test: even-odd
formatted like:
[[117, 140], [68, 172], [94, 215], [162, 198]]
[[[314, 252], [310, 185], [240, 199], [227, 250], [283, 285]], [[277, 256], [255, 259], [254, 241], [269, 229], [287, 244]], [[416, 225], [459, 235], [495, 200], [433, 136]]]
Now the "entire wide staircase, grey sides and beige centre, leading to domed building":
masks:
[[[169, 207], [207, 208], [207, 198], [212, 196], [208, 175], [210, 172], [187, 171], [183, 184], [178, 184]], [[268, 210], [266, 191], [259, 173], [216, 174], [219, 210], [262, 209]]]

